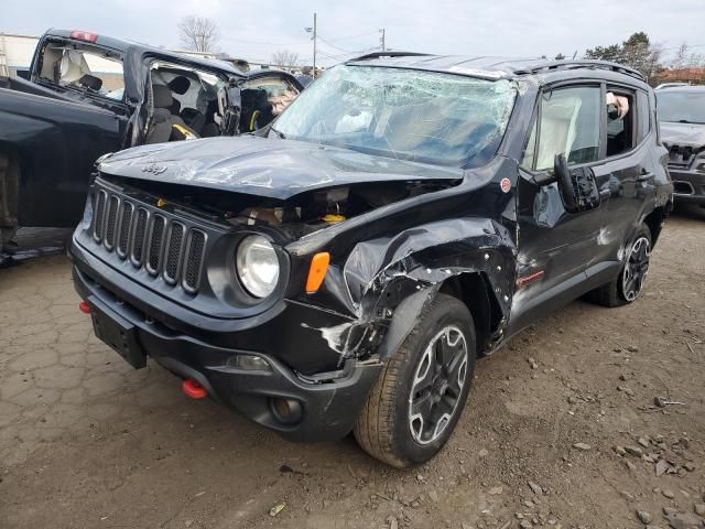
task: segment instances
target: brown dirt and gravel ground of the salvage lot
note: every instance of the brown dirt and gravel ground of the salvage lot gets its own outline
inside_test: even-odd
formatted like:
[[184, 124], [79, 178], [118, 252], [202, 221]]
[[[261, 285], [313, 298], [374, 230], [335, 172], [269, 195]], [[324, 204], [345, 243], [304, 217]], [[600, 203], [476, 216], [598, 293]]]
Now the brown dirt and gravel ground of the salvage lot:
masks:
[[705, 215], [682, 212], [638, 303], [572, 303], [481, 359], [446, 450], [402, 472], [132, 370], [76, 309], [66, 258], [24, 260], [0, 271], [0, 527], [701, 527], [704, 280]]

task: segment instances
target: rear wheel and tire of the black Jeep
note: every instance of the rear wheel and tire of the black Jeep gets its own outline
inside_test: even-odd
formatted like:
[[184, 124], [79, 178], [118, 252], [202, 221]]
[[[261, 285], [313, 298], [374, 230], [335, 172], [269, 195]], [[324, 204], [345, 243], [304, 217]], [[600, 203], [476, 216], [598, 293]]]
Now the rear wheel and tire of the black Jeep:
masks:
[[623, 264], [619, 276], [609, 283], [588, 292], [586, 298], [593, 303], [609, 307], [633, 303], [643, 290], [650, 258], [651, 230], [642, 224], [625, 247]]

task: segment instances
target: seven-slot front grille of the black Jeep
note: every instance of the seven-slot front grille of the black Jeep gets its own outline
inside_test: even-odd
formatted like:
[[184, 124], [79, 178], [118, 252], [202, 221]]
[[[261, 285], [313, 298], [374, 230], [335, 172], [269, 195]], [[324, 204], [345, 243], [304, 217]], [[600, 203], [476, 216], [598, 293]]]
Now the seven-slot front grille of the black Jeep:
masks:
[[102, 188], [95, 199], [91, 235], [97, 245], [116, 260], [129, 258], [133, 269], [144, 268], [188, 293], [198, 291], [207, 244], [203, 229]]

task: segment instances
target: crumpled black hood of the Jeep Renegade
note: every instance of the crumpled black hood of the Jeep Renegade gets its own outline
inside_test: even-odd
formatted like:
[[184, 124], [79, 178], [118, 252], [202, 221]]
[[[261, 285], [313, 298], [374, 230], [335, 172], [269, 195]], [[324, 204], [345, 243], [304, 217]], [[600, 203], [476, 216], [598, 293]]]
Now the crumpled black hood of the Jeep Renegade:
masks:
[[286, 199], [362, 182], [463, 179], [460, 169], [364, 154], [348, 149], [257, 137], [208, 138], [127, 149], [101, 173]]

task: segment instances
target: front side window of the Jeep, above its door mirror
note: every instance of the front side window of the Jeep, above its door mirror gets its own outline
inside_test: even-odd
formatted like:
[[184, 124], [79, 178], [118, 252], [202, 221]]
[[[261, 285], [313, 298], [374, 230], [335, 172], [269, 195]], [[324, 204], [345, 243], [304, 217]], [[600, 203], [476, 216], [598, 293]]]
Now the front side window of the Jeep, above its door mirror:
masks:
[[571, 165], [597, 161], [601, 109], [599, 87], [544, 93], [535, 169], [553, 168], [556, 154], [565, 154]]

